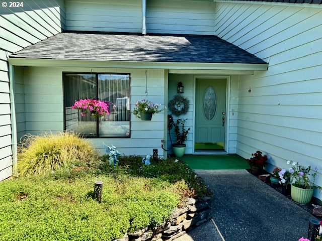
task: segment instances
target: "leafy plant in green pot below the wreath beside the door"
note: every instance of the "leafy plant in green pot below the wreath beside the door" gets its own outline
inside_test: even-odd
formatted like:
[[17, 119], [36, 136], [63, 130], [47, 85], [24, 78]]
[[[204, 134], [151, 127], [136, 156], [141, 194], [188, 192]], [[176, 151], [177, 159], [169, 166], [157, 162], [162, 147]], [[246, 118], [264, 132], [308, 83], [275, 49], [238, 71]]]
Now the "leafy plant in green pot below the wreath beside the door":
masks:
[[188, 140], [188, 133], [190, 131], [190, 128], [186, 130], [185, 124], [185, 119], [177, 119], [177, 122], [175, 123], [175, 134], [177, 143], [172, 144], [172, 150], [176, 157], [182, 157], [186, 151], [186, 144], [184, 144], [184, 142]]

